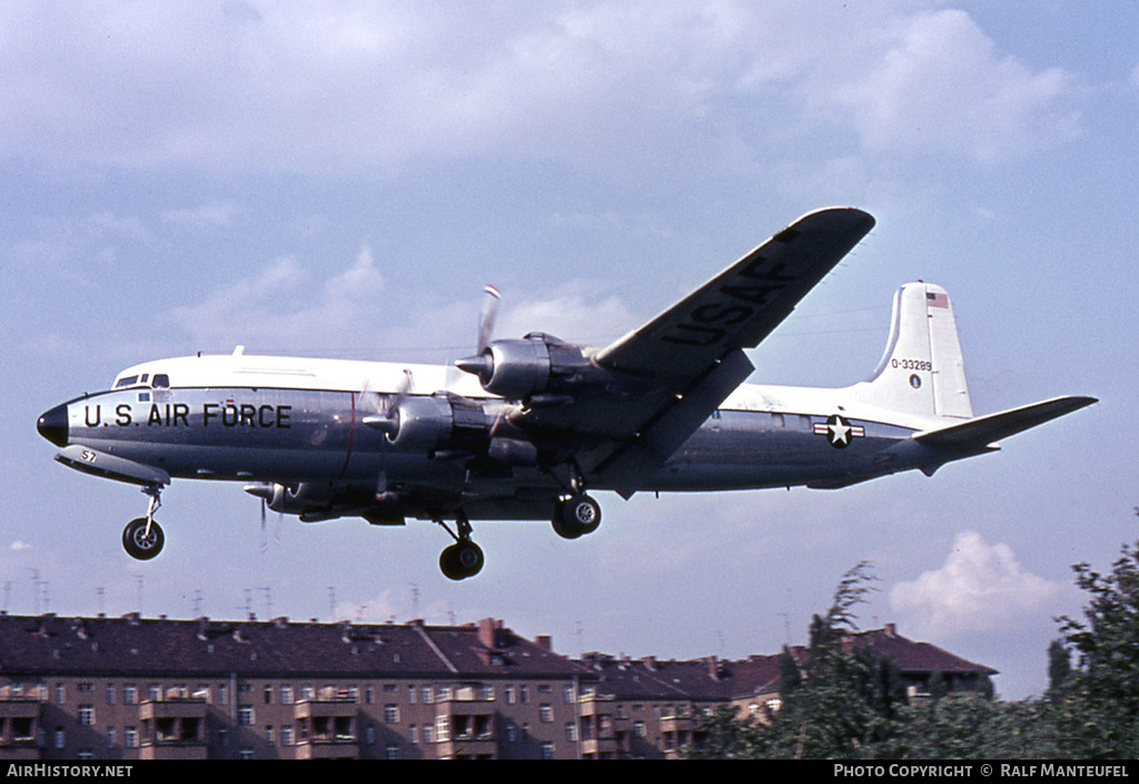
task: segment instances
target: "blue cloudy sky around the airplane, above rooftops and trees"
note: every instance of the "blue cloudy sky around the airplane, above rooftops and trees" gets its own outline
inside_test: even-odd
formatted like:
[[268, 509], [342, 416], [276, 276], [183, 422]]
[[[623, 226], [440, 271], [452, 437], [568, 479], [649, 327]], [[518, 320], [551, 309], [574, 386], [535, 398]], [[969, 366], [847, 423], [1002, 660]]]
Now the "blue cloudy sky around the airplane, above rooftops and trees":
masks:
[[[0, 575], [9, 613], [494, 616], [577, 655], [804, 644], [842, 575], [861, 628], [1047, 687], [1056, 618], [1137, 539], [1139, 6], [898, 0], [34, 2], [0, 7]], [[604, 345], [805, 212], [875, 230], [761, 346], [756, 383], [843, 386], [893, 292], [953, 297], [974, 410], [1097, 406], [933, 477], [841, 491], [599, 492], [598, 532], [303, 524], [55, 463], [36, 417], [197, 351], [448, 362]]]

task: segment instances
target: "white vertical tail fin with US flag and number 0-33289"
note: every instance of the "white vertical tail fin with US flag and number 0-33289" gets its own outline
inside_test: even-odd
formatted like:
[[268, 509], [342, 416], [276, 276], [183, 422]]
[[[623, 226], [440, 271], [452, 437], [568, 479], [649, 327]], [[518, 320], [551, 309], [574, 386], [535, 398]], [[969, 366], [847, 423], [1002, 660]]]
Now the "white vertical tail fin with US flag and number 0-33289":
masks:
[[898, 291], [886, 353], [874, 375], [850, 391], [865, 402], [906, 414], [973, 417], [957, 322], [944, 288], [918, 281]]

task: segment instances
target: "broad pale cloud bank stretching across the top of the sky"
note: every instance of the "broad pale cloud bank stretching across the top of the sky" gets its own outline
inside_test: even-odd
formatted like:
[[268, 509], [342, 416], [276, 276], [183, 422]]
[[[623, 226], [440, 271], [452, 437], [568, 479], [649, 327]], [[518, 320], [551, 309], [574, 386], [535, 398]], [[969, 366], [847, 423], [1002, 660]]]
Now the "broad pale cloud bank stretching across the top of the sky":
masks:
[[764, 160], [819, 123], [872, 150], [976, 158], [1077, 132], [1070, 73], [923, 5], [14, 2], [0, 160], [359, 172], [521, 154], [704, 170]]

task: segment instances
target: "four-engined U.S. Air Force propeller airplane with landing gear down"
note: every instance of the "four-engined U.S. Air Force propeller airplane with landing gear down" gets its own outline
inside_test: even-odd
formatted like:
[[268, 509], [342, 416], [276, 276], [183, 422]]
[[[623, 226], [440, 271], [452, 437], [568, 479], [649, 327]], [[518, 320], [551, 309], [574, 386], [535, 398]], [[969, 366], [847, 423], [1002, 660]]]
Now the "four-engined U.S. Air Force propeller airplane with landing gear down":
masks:
[[[745, 383], [745, 353], [874, 227], [868, 213], [808, 213], [641, 327], [603, 348], [544, 333], [490, 340], [450, 366], [232, 354], [130, 367], [109, 390], [44, 413], [39, 432], [77, 471], [140, 485], [123, 530], [158, 555], [172, 479], [244, 482], [262, 511], [304, 522], [419, 518], [453, 540], [442, 572], [483, 567], [470, 521], [548, 520], [595, 531], [590, 491], [845, 488], [999, 449], [998, 441], [1097, 400], [1060, 397], [974, 417], [949, 294], [907, 284], [868, 381], [842, 389]], [[453, 530], [449, 522], [453, 521]]]

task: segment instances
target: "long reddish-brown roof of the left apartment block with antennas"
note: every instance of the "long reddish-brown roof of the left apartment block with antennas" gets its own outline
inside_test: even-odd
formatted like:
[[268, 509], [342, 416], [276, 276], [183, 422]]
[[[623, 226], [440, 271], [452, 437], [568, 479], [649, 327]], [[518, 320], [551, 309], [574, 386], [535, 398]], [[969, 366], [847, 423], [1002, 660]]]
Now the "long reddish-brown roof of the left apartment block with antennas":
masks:
[[0, 615], [0, 672], [549, 677], [588, 670], [485, 619], [458, 627]]

